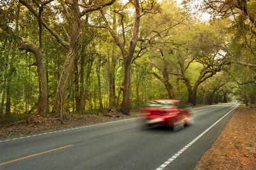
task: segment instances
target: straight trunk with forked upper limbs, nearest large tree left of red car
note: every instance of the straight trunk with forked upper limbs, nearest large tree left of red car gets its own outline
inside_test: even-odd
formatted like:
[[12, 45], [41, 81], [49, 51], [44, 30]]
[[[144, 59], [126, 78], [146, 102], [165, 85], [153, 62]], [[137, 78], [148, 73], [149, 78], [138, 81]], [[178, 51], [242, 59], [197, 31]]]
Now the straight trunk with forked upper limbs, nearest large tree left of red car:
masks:
[[[131, 106], [131, 64], [132, 64], [132, 59], [134, 59], [134, 50], [136, 48], [137, 42], [139, 40], [138, 33], [140, 29], [140, 1], [134, 0], [134, 1], [129, 1], [127, 4], [124, 5], [127, 6], [128, 4], [132, 4], [135, 10], [135, 15], [134, 15], [134, 22], [133, 22], [133, 29], [131, 33], [131, 40], [129, 43], [126, 42], [126, 37], [125, 37], [125, 27], [124, 27], [124, 8], [120, 10], [115, 10], [113, 12], [117, 13], [118, 15], [121, 16], [121, 26], [122, 26], [122, 38], [119, 38], [116, 32], [113, 30], [113, 28], [109, 25], [108, 18], [106, 18], [106, 14], [104, 10], [100, 10], [101, 17], [104, 20], [104, 25], [97, 25], [95, 27], [98, 28], [104, 28], [108, 29], [109, 33], [113, 38], [115, 39], [116, 45], [120, 48], [122, 52], [122, 57], [124, 60], [124, 83], [122, 86], [122, 92], [123, 92], [123, 100], [121, 104], [121, 111], [122, 113], [129, 115], [130, 113], [130, 106]], [[141, 4], [142, 5], [142, 4]], [[128, 34], [128, 32], [127, 32]]]

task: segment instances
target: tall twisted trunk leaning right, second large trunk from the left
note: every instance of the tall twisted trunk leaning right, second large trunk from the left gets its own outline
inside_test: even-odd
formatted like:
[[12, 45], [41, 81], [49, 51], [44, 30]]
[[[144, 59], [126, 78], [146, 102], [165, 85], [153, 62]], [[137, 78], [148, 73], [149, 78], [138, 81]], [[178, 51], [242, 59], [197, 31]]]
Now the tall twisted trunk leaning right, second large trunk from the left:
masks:
[[67, 117], [64, 109], [65, 94], [67, 91], [67, 83], [70, 77], [72, 65], [74, 63], [74, 59], [76, 58], [79, 50], [79, 29], [80, 29], [79, 13], [80, 12], [79, 12], [78, 0], [73, 1], [73, 9], [74, 9], [74, 22], [73, 22], [73, 28], [72, 28], [71, 43], [68, 48], [68, 55], [65, 59], [63, 69], [61, 71], [60, 80], [59, 80], [57, 91], [56, 91], [54, 106], [52, 108], [52, 113], [60, 115], [61, 118]]

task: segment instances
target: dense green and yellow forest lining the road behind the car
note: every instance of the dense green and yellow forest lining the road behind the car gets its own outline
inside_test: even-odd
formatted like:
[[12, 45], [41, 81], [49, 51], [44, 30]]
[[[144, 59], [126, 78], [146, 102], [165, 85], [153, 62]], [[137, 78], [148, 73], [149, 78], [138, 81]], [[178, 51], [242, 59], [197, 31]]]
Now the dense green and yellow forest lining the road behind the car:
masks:
[[0, 0], [0, 118], [253, 107], [255, 36], [255, 0]]

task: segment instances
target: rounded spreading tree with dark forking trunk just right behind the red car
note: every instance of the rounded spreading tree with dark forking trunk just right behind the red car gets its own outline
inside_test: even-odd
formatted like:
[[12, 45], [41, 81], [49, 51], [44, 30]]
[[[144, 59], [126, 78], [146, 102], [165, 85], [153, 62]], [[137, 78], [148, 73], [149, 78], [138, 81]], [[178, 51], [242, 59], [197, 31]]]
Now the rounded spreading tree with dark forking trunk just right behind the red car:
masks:
[[[187, 27], [190, 27], [190, 30]], [[198, 86], [230, 63], [223, 55], [225, 34], [221, 34], [220, 28], [212, 31], [212, 27], [216, 27], [214, 22], [209, 26], [182, 25], [176, 31], [180, 32], [179, 36], [173, 36], [173, 42], [165, 46], [164, 50], [160, 50], [162, 55], [159, 59], [164, 58], [164, 63], [169, 66], [166, 73], [177, 76], [183, 81], [188, 90], [188, 103], [194, 105]], [[220, 41], [221, 38], [222, 41]], [[191, 70], [193, 67], [196, 69]]]

